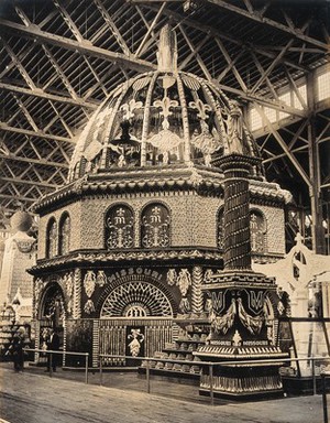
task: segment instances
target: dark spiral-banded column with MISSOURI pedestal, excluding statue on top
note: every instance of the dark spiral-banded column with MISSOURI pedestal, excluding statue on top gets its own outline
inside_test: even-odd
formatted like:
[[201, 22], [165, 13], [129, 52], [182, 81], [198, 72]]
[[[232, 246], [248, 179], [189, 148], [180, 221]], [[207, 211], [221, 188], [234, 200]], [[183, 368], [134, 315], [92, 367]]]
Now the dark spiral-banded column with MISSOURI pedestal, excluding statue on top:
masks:
[[[286, 357], [267, 332], [275, 280], [251, 269], [249, 177], [256, 158], [232, 153], [213, 161], [224, 174], [224, 269], [202, 286], [211, 299], [211, 332], [195, 355], [207, 361], [241, 361], [202, 370], [200, 393], [237, 400], [278, 395], [282, 380], [274, 359]], [[257, 365], [255, 360], [267, 360]], [[243, 361], [249, 361], [244, 364]], [[212, 379], [211, 379], [212, 378]], [[211, 388], [212, 382], [212, 388]]]

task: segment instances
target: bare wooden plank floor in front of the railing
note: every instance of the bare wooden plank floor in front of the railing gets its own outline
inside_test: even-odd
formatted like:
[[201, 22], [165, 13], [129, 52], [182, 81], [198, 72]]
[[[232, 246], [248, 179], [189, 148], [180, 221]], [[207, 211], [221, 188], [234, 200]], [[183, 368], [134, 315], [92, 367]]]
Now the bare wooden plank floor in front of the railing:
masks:
[[[10, 423], [320, 423], [321, 395], [235, 403], [198, 395], [198, 387], [145, 379], [132, 372], [99, 373], [0, 364], [0, 422]], [[330, 400], [328, 399], [328, 403]], [[329, 408], [329, 404], [328, 404]]]

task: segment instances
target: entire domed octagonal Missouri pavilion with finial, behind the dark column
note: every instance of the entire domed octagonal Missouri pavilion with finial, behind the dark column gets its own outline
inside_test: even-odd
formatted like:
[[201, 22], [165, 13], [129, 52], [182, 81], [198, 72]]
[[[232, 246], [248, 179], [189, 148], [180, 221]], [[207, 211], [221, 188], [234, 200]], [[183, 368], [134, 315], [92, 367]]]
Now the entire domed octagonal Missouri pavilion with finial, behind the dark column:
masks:
[[[227, 242], [223, 172], [212, 158], [258, 156], [239, 105], [178, 70], [176, 54], [166, 25], [158, 68], [105, 99], [77, 141], [67, 184], [35, 204], [36, 340], [55, 326], [63, 348], [89, 351], [94, 367], [100, 354], [154, 356], [180, 337], [183, 361], [194, 359], [210, 326], [212, 297], [202, 288], [223, 267]], [[258, 160], [248, 177], [252, 257], [274, 262], [285, 253], [289, 196], [266, 182]], [[275, 296], [267, 302], [270, 325]], [[167, 370], [195, 368], [183, 362]]]

